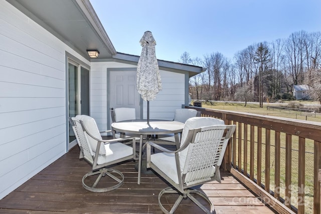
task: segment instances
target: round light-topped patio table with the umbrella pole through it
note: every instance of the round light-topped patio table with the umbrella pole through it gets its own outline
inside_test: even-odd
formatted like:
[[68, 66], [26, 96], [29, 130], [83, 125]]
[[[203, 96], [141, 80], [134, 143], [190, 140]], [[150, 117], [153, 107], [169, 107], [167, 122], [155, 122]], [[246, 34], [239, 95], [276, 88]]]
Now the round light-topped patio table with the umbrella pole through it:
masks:
[[138, 157], [138, 181], [140, 184], [140, 170], [141, 170], [141, 150], [143, 135], [159, 135], [159, 134], [173, 134], [175, 135], [175, 141], [177, 148], [180, 147], [179, 133], [183, 131], [184, 123], [178, 121], [168, 120], [149, 120], [147, 124], [146, 120], [126, 120], [115, 122], [111, 124], [111, 128], [114, 131], [125, 132], [131, 134], [139, 134], [139, 157]]

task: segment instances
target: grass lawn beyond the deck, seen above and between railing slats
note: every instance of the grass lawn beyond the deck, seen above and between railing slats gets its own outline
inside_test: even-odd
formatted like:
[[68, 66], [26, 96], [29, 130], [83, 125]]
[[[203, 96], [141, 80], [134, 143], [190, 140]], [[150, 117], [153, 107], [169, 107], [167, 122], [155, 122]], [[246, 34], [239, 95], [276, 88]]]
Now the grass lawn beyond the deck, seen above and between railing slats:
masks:
[[[317, 105], [317, 103], [312, 103], [310, 101], [303, 101], [303, 104], [308, 105]], [[233, 103], [233, 102], [207, 102], [203, 103], [203, 108], [209, 109], [217, 109], [217, 110], [227, 110], [227, 111], [237, 111], [237, 112], [245, 112], [245, 113], [252, 113], [252, 114], [259, 114], [259, 115], [269, 115], [269, 116], [276, 116], [276, 117], [283, 117], [283, 118], [292, 118], [292, 119], [299, 119], [299, 120], [308, 120], [308, 121], [315, 121], [321, 122], [321, 114], [316, 113], [315, 116], [305, 116], [302, 115], [299, 111], [289, 111], [289, 110], [280, 110], [280, 109], [269, 109], [267, 110], [267, 106], [280, 106], [280, 104], [263, 104], [263, 108], [260, 108], [258, 104], [248, 103], [244, 106], [244, 103]], [[282, 105], [286, 105], [283, 103]], [[238, 124], [237, 124], [238, 125]], [[243, 130], [243, 127], [242, 127]], [[236, 132], [238, 132], [238, 128], [236, 128]], [[238, 133], [236, 135], [238, 137]], [[285, 134], [281, 133], [281, 155], [280, 155], [280, 196], [284, 198], [285, 196]], [[242, 133], [243, 138], [243, 133]], [[255, 146], [254, 146], [254, 177], [257, 178], [257, 127], [255, 127]], [[275, 159], [275, 142], [274, 142], [274, 131], [270, 133], [270, 189], [274, 191], [274, 159]], [[248, 127], [248, 164], [247, 164], [247, 171], [250, 172], [250, 127]], [[243, 141], [242, 141], [243, 144]], [[238, 140], [235, 141], [236, 149], [236, 165], [241, 165], [241, 168], [244, 168], [243, 163], [243, 148], [242, 146], [242, 162], [238, 163]], [[291, 154], [291, 204], [297, 207], [298, 198], [298, 137], [292, 136], [292, 154]], [[265, 183], [265, 129], [262, 128], [262, 184]], [[312, 213], [313, 211], [313, 152], [314, 152], [314, 144], [313, 141], [310, 139], [305, 140], [305, 187], [304, 187], [304, 204], [305, 204], [305, 212]]]

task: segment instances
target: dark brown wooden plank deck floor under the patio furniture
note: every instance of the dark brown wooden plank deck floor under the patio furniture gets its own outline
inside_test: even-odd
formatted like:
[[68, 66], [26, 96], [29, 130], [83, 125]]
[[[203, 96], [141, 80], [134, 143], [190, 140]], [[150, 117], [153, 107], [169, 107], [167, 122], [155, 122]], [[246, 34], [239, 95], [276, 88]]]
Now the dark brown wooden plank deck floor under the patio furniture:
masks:
[[[76, 146], [0, 200], [0, 213], [163, 213], [157, 197], [168, 184], [155, 174], [142, 174], [138, 185], [134, 164], [127, 161], [113, 167], [125, 176], [118, 189], [89, 192], [82, 187], [81, 179], [91, 167], [79, 160]], [[214, 202], [216, 213], [275, 213], [230, 173], [222, 172], [221, 176], [222, 183], [213, 181], [200, 186]], [[175, 199], [167, 197], [169, 203]], [[186, 199], [176, 213], [203, 211]]]

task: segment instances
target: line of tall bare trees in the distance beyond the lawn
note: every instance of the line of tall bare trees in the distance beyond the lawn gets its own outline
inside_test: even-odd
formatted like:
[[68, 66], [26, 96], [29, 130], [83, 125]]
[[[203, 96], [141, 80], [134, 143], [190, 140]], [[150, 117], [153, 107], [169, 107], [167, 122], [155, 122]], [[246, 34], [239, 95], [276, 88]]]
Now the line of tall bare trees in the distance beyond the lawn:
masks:
[[308, 85], [309, 95], [321, 103], [321, 32], [292, 33], [287, 39], [249, 45], [233, 59], [216, 52], [181, 63], [206, 71], [190, 78], [192, 99], [270, 102], [293, 99], [294, 85]]

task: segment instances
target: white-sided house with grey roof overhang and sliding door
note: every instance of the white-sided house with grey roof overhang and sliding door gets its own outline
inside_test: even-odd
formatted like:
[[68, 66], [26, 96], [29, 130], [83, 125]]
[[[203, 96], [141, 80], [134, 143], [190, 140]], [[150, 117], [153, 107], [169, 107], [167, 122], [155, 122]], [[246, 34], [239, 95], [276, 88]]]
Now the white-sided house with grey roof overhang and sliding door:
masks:
[[[0, 1], [0, 26], [2, 199], [77, 145], [69, 116], [90, 115], [102, 131], [110, 108], [133, 107], [143, 119], [147, 103], [136, 90], [139, 56], [115, 50], [89, 0]], [[163, 90], [150, 117], [173, 120], [175, 109], [189, 105], [189, 78], [203, 68], [158, 66]]]

